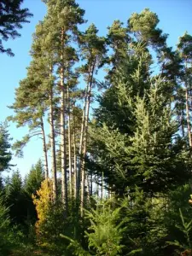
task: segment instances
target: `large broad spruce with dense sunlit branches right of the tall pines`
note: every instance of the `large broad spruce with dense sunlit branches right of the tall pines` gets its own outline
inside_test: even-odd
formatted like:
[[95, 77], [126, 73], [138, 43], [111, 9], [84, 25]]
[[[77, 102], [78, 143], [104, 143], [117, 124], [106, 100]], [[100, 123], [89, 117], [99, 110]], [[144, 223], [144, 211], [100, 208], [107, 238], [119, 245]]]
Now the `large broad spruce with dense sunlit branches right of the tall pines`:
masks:
[[[104, 171], [106, 180], [110, 186], [116, 186], [119, 195], [126, 188], [134, 189], [136, 184], [148, 195], [154, 195], [184, 183], [189, 177], [189, 152], [181, 147], [177, 136], [179, 125], [170, 106], [173, 90], [167, 90], [169, 84], [164, 79], [148, 76], [144, 53], [132, 73], [123, 75], [119, 66], [116, 84], [113, 82], [113, 87], [106, 91], [107, 94], [113, 88], [108, 97], [116, 97], [118, 111], [104, 105], [107, 119], [102, 119], [105, 117], [102, 108], [102, 112], [100, 109], [96, 112], [99, 122], [93, 135], [96, 142], [93, 155], [95, 158], [97, 154], [98, 170]], [[131, 59], [134, 60], [133, 56]], [[141, 74], [145, 79], [140, 79]], [[125, 118], [117, 122], [121, 113]]]

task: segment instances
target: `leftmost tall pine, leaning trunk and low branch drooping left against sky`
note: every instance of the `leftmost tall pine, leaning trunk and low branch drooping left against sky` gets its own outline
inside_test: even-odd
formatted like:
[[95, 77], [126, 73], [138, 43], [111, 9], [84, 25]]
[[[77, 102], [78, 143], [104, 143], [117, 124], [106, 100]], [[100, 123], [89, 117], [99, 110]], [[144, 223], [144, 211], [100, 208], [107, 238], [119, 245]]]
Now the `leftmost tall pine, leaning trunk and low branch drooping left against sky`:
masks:
[[[36, 75], [33, 75], [33, 74]], [[32, 137], [41, 136], [43, 141], [45, 175], [49, 176], [46, 135], [44, 131], [44, 112], [46, 105], [44, 101], [47, 95], [42, 88], [42, 79], [38, 75], [37, 63], [33, 61], [28, 68], [27, 77], [20, 81], [19, 88], [15, 91], [15, 103], [9, 108], [14, 109], [15, 116], [9, 116], [9, 120], [16, 122], [17, 127], [28, 125], [29, 133], [20, 141], [16, 141], [13, 149], [16, 155], [23, 156], [23, 148]]]

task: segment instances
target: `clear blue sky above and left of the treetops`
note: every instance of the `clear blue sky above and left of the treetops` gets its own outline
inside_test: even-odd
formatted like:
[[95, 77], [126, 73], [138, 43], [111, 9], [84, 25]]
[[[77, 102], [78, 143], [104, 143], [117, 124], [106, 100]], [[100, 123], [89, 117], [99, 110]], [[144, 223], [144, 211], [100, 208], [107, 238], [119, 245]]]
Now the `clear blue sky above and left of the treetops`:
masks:
[[[106, 35], [107, 27], [113, 20], [128, 20], [133, 12], [141, 12], [144, 8], [149, 8], [155, 12], [160, 19], [159, 27], [163, 32], [169, 34], [167, 43], [175, 46], [177, 40], [188, 31], [192, 35], [192, 0], [78, 0], [82, 9], [85, 9], [85, 19], [87, 24], [81, 26], [84, 30], [90, 23], [95, 23], [100, 35]], [[29, 65], [29, 50], [32, 44], [32, 32], [38, 20], [43, 20], [46, 8], [41, 0], [24, 0], [24, 6], [30, 9], [33, 14], [31, 23], [24, 25], [20, 30], [21, 37], [10, 40], [4, 44], [13, 49], [15, 57], [0, 55], [0, 121], [13, 114], [7, 108], [15, 99], [15, 88], [19, 85], [20, 79], [26, 76], [26, 67]], [[26, 134], [26, 128], [16, 128], [10, 124], [9, 132], [13, 141], [20, 139]], [[17, 164], [22, 176], [24, 176], [32, 166], [42, 157], [42, 147], [38, 139], [33, 139], [24, 150], [24, 158], [14, 158], [12, 163]]]

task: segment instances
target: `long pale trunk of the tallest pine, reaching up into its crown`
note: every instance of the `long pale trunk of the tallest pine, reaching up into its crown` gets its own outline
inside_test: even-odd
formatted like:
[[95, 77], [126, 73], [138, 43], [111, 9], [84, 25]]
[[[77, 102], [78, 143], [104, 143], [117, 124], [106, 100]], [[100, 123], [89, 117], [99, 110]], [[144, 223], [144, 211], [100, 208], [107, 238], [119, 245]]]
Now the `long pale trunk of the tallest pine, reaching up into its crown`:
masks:
[[[64, 32], [61, 31], [61, 47], [64, 45]], [[65, 86], [64, 86], [64, 68], [63, 68], [64, 54], [61, 53], [61, 195], [62, 202], [67, 213], [67, 154], [66, 154], [66, 106], [65, 106]]]

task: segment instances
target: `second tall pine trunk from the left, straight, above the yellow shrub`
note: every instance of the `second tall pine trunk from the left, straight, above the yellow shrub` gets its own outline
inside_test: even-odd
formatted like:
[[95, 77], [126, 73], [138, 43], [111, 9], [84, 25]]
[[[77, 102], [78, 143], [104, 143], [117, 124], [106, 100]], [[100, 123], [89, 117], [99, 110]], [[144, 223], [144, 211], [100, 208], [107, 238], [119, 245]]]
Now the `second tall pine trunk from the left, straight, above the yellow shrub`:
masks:
[[[52, 67], [50, 67], [50, 77], [52, 76]], [[53, 113], [53, 85], [50, 88], [50, 108], [49, 108], [49, 124], [50, 124], [50, 148], [51, 148], [51, 166], [53, 178], [53, 198], [57, 195], [57, 179], [56, 179], [56, 154], [55, 154], [55, 128], [54, 128], [54, 113]]]

